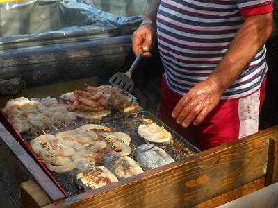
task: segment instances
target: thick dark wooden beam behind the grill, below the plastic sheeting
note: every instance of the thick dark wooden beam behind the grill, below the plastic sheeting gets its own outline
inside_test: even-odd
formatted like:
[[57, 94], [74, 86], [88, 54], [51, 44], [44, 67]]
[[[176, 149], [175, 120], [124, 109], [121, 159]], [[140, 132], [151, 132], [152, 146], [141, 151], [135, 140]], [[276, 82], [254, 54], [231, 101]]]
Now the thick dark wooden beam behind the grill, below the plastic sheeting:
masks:
[[130, 49], [131, 37], [123, 35], [0, 53], [0, 95], [90, 76], [107, 83], [113, 70], [121, 69]]

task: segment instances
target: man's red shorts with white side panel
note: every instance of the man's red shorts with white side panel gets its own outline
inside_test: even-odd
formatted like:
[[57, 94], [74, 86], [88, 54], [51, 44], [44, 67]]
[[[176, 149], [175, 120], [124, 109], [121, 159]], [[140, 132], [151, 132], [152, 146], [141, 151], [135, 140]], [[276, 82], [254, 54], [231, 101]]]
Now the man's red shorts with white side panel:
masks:
[[[266, 78], [261, 89], [250, 96], [231, 101], [220, 101], [218, 106], [206, 116], [202, 124], [195, 128], [195, 136], [200, 148], [205, 150], [258, 132], [259, 112], [265, 97], [265, 84]], [[188, 130], [178, 125], [171, 116], [181, 97], [167, 87], [166, 80], [163, 78], [158, 116], [184, 138], [189, 138], [192, 135], [188, 136]], [[190, 139], [188, 140], [190, 141]]]

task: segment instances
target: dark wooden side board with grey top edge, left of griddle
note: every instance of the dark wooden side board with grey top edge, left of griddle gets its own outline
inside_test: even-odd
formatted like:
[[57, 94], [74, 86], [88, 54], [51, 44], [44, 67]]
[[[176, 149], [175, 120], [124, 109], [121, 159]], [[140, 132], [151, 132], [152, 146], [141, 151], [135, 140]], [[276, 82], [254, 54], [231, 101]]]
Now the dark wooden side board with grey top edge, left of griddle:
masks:
[[[26, 150], [20, 146], [0, 123], [0, 180], [19, 198], [19, 187], [26, 180], [37, 182], [52, 202], [65, 198], [49, 177], [35, 163]], [[13, 173], [13, 177], [10, 177]]]

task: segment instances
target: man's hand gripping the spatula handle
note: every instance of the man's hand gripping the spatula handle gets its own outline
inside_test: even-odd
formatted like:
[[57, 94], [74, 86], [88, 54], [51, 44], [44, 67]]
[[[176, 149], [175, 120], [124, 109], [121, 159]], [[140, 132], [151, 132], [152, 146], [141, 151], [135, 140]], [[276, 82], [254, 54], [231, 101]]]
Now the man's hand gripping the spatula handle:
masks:
[[151, 57], [149, 51], [152, 50], [154, 42], [154, 28], [151, 25], [140, 26], [137, 31], [133, 33], [132, 49], [133, 53], [137, 56], [142, 50], [143, 57]]

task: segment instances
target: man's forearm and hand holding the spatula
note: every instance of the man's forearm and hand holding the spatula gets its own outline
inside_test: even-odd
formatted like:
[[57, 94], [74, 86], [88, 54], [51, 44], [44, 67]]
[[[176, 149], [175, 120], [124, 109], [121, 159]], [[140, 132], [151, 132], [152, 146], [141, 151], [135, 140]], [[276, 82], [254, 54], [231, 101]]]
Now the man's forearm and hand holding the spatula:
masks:
[[[142, 25], [133, 33], [133, 41], [132, 48], [133, 53], [137, 56], [142, 50], [145, 51], [143, 53], [144, 57], [150, 57], [151, 53], [149, 51], [152, 50], [152, 45], [154, 43], [154, 22], [156, 21], [156, 15], [158, 11], [158, 7], [160, 4], [160, 0], [153, 0], [151, 5], [149, 6], [149, 10], [147, 15], [145, 15]], [[153, 24], [151, 24], [151, 22]], [[147, 23], [147, 24], [146, 24]]]

